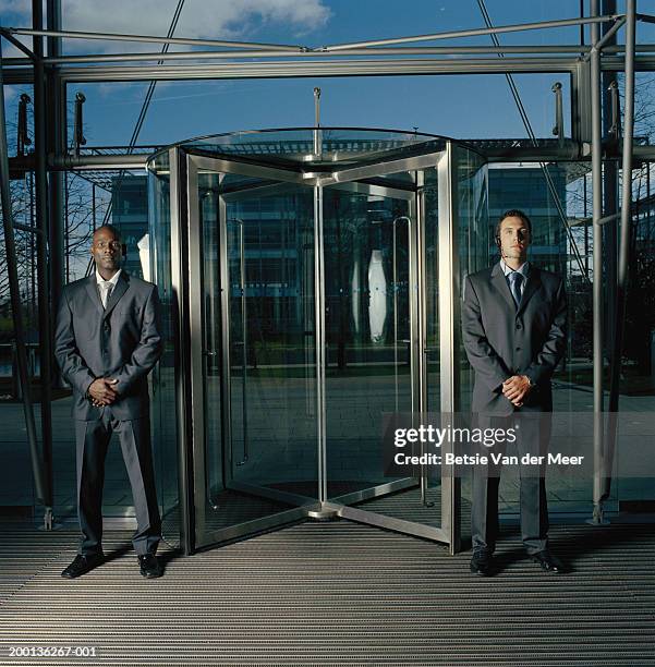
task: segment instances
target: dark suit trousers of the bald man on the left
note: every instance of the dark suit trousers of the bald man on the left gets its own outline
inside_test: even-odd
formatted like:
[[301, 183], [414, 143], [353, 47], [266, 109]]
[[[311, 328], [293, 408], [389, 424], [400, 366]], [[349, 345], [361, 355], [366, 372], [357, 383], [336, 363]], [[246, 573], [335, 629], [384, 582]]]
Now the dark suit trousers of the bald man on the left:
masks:
[[85, 556], [102, 551], [102, 487], [105, 460], [112, 433], [119, 436], [136, 511], [134, 550], [141, 556], [155, 554], [161, 539], [161, 520], [155, 490], [155, 472], [148, 416], [117, 420], [111, 408], [102, 409], [100, 419], [75, 422], [77, 445], [77, 513], [82, 541], [78, 553]]

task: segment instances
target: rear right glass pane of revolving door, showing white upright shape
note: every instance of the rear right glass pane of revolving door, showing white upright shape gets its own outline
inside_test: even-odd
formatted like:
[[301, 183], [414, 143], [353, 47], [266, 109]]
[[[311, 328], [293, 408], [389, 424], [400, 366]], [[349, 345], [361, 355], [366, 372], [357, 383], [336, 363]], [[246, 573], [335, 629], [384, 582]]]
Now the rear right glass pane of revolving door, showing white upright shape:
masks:
[[[354, 502], [413, 480], [385, 476], [383, 414], [411, 412], [410, 198], [324, 191], [328, 498]], [[395, 486], [393, 486], [395, 485]]]

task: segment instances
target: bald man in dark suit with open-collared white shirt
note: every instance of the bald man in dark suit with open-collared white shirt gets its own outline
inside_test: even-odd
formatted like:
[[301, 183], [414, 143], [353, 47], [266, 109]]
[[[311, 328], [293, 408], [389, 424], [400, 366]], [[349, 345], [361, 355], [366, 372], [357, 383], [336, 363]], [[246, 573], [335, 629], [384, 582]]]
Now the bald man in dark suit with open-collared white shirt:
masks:
[[112, 433], [121, 451], [136, 510], [133, 545], [141, 573], [161, 575], [155, 556], [161, 538], [150, 447], [147, 375], [162, 352], [157, 287], [120, 268], [120, 234], [96, 230], [94, 274], [68, 284], [57, 317], [54, 353], [73, 387], [77, 447], [77, 509], [82, 541], [62, 572], [74, 579], [100, 565], [102, 485]]

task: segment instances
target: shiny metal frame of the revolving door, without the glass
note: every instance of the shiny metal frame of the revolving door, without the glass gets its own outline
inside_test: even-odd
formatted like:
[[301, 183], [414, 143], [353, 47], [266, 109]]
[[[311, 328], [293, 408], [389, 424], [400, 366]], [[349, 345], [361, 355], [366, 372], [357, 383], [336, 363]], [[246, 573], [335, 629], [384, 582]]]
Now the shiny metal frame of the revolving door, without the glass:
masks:
[[[441, 331], [441, 340], [454, 342], [457, 344], [457, 298], [459, 293], [459, 281], [454, 278], [457, 274], [457, 222], [454, 217], [453, 202], [457, 199], [457, 155], [450, 140], [444, 141], [444, 148], [439, 151], [429, 151], [424, 155], [414, 155], [403, 159], [393, 159], [398, 150], [389, 150], [387, 159], [385, 154], [380, 154], [377, 163], [367, 163], [363, 168], [340, 169], [338, 163], [331, 167], [331, 171], [324, 168], [320, 172], [312, 171], [311, 165], [296, 163], [295, 169], [280, 168], [275, 161], [267, 161], [265, 157], [246, 158], [240, 156], [239, 161], [233, 159], [230, 154], [209, 155], [207, 150], [194, 148], [193, 146], [180, 146], [169, 149], [169, 177], [171, 180], [171, 221], [175, 226], [172, 233], [172, 264], [174, 266], [187, 266], [189, 275], [181, 272], [173, 275], [173, 293], [177, 294], [177, 312], [181, 314], [181, 329], [186, 331], [186, 342], [181, 341], [185, 347], [185, 352], [181, 351], [180, 356], [187, 356], [185, 364], [189, 377], [179, 376], [177, 386], [177, 404], [181, 412], [178, 417], [181, 422], [190, 424], [190, 429], [184, 429], [184, 436], [180, 440], [180, 448], [184, 450], [181, 457], [184, 460], [193, 461], [186, 468], [185, 476], [181, 480], [185, 498], [193, 498], [193, 504], [187, 511], [182, 512], [186, 525], [183, 526], [182, 535], [186, 553], [193, 553], [198, 548], [206, 548], [216, 544], [222, 544], [235, 538], [244, 537], [265, 530], [272, 530], [286, 525], [290, 522], [306, 518], [329, 518], [342, 517], [360, 523], [367, 523], [393, 530], [410, 535], [445, 543], [451, 553], [459, 550], [461, 545], [460, 536], [460, 485], [453, 476], [449, 466], [444, 466], [441, 476], [441, 525], [433, 526], [409, 521], [395, 517], [380, 514], [361, 507], [352, 507], [351, 504], [362, 500], [383, 497], [402, 489], [417, 487], [421, 489], [422, 502], [426, 501], [427, 490], [427, 468], [423, 466], [421, 477], [408, 477], [395, 480], [384, 484], [378, 484], [369, 488], [347, 493], [338, 497], [328, 497], [327, 493], [327, 433], [326, 433], [326, 404], [325, 404], [325, 315], [323, 303], [325, 301], [325, 276], [323, 260], [323, 191], [324, 189], [338, 189], [349, 192], [360, 192], [366, 194], [380, 194], [383, 196], [396, 197], [408, 201], [410, 204], [410, 282], [416, 284], [416, 292], [413, 294], [410, 307], [411, 322], [411, 391], [412, 411], [426, 413], [427, 389], [426, 389], [426, 349], [425, 330], [426, 313], [421, 307], [421, 301], [425, 300], [425, 267], [424, 250], [421, 244], [424, 238], [425, 211], [423, 210], [423, 170], [436, 169], [438, 173], [439, 192], [439, 266], [441, 267], [440, 282], [446, 286], [448, 294], [440, 299], [439, 318], [440, 327], [446, 327], [448, 331]], [[417, 145], [419, 147], [421, 144]], [[414, 151], [419, 151], [416, 147]], [[372, 159], [367, 159], [372, 162]], [[323, 166], [322, 166], [323, 167]], [[218, 203], [218, 225], [219, 225], [219, 271], [221, 274], [221, 293], [223, 302], [221, 304], [221, 336], [223, 355], [222, 365], [222, 401], [230, 402], [230, 320], [228, 314], [227, 296], [229, 277], [227, 275], [227, 216], [226, 204], [230, 201], [244, 199], [248, 195], [275, 195], [289, 192], [290, 189], [298, 187], [314, 191], [314, 234], [315, 234], [315, 322], [316, 322], [316, 413], [317, 413], [317, 495], [316, 497], [290, 494], [266, 486], [257, 486], [251, 483], [234, 481], [231, 473], [231, 424], [230, 417], [226, 416], [229, 412], [223, 407], [222, 419], [222, 444], [223, 465], [226, 473], [227, 488], [250, 496], [259, 496], [271, 500], [278, 500], [294, 505], [295, 507], [281, 510], [278, 513], [269, 514], [260, 519], [250, 520], [240, 524], [234, 524], [222, 529], [208, 529], [206, 521], [206, 494], [207, 494], [207, 428], [205, 413], [205, 391], [206, 378], [204, 372], [205, 359], [214, 351], [204, 349], [204, 315], [203, 315], [203, 257], [205, 250], [202, 247], [203, 229], [199, 218], [199, 197], [198, 197], [198, 177], [201, 173], [215, 173], [219, 178], [222, 174], [238, 174], [244, 177], [256, 177], [264, 183], [253, 183], [219, 194]], [[375, 177], [389, 173], [410, 172], [414, 174], [414, 182], [403, 190], [388, 189], [380, 184], [369, 183]], [[186, 194], [180, 193], [182, 190]], [[174, 197], [172, 193], [178, 193]], [[448, 243], [444, 244], [444, 241]], [[423, 258], [423, 259], [422, 259]], [[450, 278], [446, 279], [449, 275]], [[416, 303], [414, 303], [416, 302]], [[454, 412], [459, 405], [459, 359], [458, 350], [449, 347], [442, 349], [441, 362], [445, 363], [441, 373], [442, 404], [440, 411]], [[180, 397], [187, 396], [190, 400], [184, 401]], [[434, 411], [434, 408], [433, 410]]]

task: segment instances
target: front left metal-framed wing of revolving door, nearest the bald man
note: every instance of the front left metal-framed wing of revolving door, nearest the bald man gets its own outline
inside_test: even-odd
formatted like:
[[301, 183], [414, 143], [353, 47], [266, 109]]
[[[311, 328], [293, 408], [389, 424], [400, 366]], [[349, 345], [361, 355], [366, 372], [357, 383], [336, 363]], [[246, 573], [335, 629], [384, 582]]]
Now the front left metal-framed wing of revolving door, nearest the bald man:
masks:
[[317, 485], [312, 205], [213, 162], [187, 162], [196, 548], [304, 517]]

